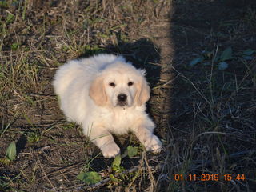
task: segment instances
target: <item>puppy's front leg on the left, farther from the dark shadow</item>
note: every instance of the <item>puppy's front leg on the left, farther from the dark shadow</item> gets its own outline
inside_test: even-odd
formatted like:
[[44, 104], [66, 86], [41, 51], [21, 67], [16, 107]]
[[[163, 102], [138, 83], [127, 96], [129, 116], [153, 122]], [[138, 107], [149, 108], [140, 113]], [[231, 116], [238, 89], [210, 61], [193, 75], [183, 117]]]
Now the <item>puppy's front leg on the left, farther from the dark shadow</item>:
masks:
[[90, 141], [102, 150], [105, 158], [114, 158], [120, 153], [120, 148], [114, 142], [113, 136], [107, 130], [94, 127], [88, 134]]

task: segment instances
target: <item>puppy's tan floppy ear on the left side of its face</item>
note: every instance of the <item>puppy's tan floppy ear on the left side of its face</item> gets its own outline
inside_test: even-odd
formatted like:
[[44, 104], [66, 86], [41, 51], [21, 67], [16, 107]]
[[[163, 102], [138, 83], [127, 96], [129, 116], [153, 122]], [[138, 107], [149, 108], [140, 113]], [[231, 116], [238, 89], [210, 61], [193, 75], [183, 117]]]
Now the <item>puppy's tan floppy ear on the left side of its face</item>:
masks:
[[107, 102], [103, 76], [98, 76], [90, 85], [89, 96], [98, 106], [104, 106]]

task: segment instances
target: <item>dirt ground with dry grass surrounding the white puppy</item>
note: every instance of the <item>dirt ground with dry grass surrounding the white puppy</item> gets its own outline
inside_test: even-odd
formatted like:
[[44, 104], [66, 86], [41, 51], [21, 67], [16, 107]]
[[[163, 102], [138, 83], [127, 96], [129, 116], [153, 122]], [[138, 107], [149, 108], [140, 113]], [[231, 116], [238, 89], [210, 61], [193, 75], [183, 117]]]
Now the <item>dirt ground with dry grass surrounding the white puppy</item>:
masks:
[[[253, 0], [2, 0], [0, 16], [0, 191], [256, 190]], [[163, 143], [154, 155], [116, 138], [122, 154], [138, 147], [120, 172], [51, 85], [58, 66], [98, 53], [147, 70]], [[77, 178], [88, 171], [102, 182]]]

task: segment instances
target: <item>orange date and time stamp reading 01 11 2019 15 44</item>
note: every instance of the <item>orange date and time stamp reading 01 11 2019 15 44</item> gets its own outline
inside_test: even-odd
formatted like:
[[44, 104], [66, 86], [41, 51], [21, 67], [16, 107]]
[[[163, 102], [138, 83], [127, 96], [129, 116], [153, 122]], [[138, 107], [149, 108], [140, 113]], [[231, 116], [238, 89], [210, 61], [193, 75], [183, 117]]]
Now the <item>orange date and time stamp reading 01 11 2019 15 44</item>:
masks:
[[208, 182], [208, 181], [234, 181], [234, 180], [242, 180], [246, 179], [245, 174], [174, 174], [174, 181], [201, 181], [201, 182]]

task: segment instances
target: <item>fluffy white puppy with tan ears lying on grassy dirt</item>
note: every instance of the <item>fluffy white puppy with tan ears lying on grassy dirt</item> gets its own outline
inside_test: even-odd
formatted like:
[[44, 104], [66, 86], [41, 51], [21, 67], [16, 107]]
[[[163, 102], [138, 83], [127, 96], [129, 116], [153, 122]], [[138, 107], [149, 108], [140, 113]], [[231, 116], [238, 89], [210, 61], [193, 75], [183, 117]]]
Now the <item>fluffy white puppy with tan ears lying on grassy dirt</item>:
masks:
[[54, 90], [70, 122], [82, 126], [106, 158], [119, 154], [111, 134], [132, 131], [146, 150], [159, 152], [154, 122], [146, 114], [150, 87], [145, 70], [136, 70], [124, 58], [98, 54], [67, 62], [54, 76]]

